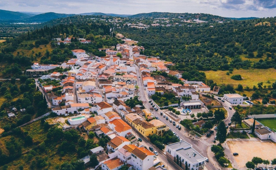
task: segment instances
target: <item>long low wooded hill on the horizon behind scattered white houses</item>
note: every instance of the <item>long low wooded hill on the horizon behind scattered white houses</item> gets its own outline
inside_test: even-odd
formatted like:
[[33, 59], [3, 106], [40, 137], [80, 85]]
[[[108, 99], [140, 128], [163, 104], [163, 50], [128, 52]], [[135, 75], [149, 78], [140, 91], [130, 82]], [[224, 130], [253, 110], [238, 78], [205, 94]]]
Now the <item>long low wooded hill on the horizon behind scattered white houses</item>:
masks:
[[150, 13], [139, 13], [129, 16], [130, 18], [178, 18], [183, 17], [184, 19], [200, 19], [205, 21], [216, 21], [216, 20], [229, 20], [226, 17], [220, 17], [211, 14], [204, 13], [171, 13], [171, 12], [150, 12]]

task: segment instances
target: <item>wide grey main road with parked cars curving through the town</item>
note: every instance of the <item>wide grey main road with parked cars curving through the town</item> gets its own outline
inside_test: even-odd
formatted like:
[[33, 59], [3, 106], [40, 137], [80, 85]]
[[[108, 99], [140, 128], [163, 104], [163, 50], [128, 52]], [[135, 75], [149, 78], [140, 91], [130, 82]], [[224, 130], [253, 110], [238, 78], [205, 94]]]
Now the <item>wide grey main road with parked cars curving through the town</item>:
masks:
[[[138, 86], [139, 86], [139, 93], [140, 93], [140, 100], [144, 103], [145, 108], [149, 109], [152, 108], [150, 103], [149, 103], [149, 99], [148, 99], [148, 95], [145, 91], [144, 85], [142, 83], [142, 76], [140, 73], [140, 69], [139, 67], [136, 65], [136, 73], [137, 73], [137, 79], [138, 79]], [[178, 130], [177, 128], [175, 128], [175, 126], [173, 126], [172, 123], [170, 123], [168, 120], [166, 120], [163, 116], [160, 115], [160, 111], [155, 111], [153, 110], [151, 112], [155, 117], [158, 117], [160, 119], [160, 121], [162, 121], [163, 123], [165, 123], [172, 131], [174, 131], [176, 133], [176, 135], [178, 135], [181, 139], [185, 140], [186, 142], [190, 143], [193, 145], [193, 148], [200, 154], [202, 154], [204, 157], [207, 157], [207, 149], [208, 147], [211, 146], [212, 140], [214, 140], [214, 136], [215, 133], [214, 132], [212, 134], [211, 137], [205, 139], [205, 140], [195, 140], [195, 139], [190, 139], [185, 137], [185, 135], [188, 135], [187, 132], [185, 132], [185, 128], [182, 128], [182, 130]], [[176, 123], [177, 124], [177, 123]], [[164, 153], [162, 153], [164, 154]], [[170, 161], [169, 161], [170, 162]], [[205, 165], [206, 168], [208, 168], [209, 170], [215, 170], [217, 169], [212, 163], [206, 163]]]

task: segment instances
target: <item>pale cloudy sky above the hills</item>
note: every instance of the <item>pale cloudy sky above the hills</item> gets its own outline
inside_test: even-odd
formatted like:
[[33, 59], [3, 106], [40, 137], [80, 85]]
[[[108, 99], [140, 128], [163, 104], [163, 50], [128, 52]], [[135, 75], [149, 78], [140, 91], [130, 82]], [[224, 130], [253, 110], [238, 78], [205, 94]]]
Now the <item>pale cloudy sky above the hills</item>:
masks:
[[276, 0], [0, 0], [0, 9], [75, 14], [189, 12], [222, 17], [274, 17]]

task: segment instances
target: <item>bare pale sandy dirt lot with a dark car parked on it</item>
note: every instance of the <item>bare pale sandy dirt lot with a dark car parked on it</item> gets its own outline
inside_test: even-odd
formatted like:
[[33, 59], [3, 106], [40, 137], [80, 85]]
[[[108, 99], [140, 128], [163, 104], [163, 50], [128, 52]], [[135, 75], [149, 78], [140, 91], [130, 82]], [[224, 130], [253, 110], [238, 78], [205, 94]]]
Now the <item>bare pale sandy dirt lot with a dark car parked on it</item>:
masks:
[[244, 167], [245, 163], [251, 161], [253, 157], [260, 157], [265, 160], [271, 160], [276, 153], [276, 144], [273, 142], [260, 141], [228, 141], [227, 145], [231, 153], [239, 153], [235, 156], [239, 168]]

